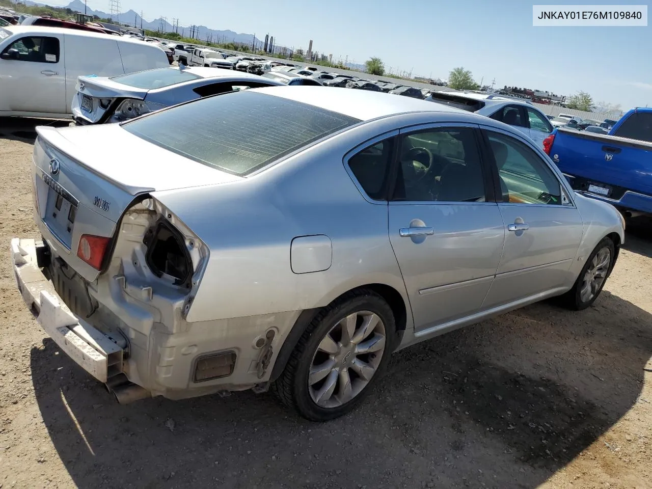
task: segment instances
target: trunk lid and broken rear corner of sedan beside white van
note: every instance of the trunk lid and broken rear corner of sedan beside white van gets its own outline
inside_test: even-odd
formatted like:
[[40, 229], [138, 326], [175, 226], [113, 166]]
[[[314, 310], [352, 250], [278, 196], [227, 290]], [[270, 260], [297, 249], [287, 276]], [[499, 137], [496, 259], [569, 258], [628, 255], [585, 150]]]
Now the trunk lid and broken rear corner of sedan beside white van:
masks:
[[82, 123], [96, 124], [104, 121], [115, 110], [118, 100], [136, 98], [144, 100], [147, 89], [130, 87], [114, 82], [106, 76], [80, 76], [72, 97], [72, 115]]

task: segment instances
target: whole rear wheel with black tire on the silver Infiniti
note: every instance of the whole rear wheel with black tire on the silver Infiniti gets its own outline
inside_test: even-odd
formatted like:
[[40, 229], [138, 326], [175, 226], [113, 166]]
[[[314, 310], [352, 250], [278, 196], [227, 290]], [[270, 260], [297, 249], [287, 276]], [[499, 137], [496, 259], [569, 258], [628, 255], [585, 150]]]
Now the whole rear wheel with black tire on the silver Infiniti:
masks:
[[351, 291], [308, 325], [272, 390], [310, 421], [340, 417], [381, 377], [395, 332], [394, 314], [382, 297]]

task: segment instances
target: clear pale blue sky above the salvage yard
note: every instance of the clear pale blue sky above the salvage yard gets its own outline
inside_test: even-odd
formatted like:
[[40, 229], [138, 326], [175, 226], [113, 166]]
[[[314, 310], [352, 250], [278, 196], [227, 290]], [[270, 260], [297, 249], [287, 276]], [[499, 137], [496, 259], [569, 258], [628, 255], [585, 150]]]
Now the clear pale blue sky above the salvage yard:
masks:
[[[67, 0], [55, 0], [65, 4]], [[394, 72], [447, 78], [463, 66], [477, 82], [516, 85], [559, 95], [584, 90], [595, 102], [623, 110], [652, 106], [652, 27], [533, 27], [532, 5], [523, 0], [121, 0], [121, 10], [143, 10], [146, 20], [179, 17], [212, 29], [266, 33], [278, 45], [348, 56], [363, 63], [383, 59]], [[581, 5], [581, 1], [549, 2]], [[614, 5], [617, 1], [602, 2]], [[636, 2], [628, 2], [629, 5]], [[641, 3], [641, 2], [638, 2]], [[109, 10], [108, 0], [88, 0]], [[588, 4], [587, 4], [588, 5]], [[595, 4], [593, 4], [595, 5]]]

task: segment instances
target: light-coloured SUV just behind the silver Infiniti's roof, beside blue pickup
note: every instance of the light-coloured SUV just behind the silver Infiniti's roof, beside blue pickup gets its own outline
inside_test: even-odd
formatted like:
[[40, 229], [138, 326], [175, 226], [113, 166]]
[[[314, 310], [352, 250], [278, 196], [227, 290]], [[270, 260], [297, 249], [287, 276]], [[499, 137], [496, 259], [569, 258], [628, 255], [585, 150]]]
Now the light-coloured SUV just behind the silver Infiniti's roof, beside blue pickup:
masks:
[[486, 115], [496, 121], [514, 126], [535, 141], [539, 147], [542, 147], [543, 140], [554, 129], [546, 114], [531, 103], [518, 98], [437, 91], [427, 96], [426, 100]]

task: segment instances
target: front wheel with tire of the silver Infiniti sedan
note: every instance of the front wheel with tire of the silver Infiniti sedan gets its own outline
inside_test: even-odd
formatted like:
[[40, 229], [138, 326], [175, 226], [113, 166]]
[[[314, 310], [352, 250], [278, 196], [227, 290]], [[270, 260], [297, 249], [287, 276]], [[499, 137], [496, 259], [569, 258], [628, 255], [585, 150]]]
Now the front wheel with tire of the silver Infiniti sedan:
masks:
[[614, 242], [603, 238], [584, 263], [572, 289], [560, 297], [564, 306], [580, 311], [598, 298], [614, 262]]

